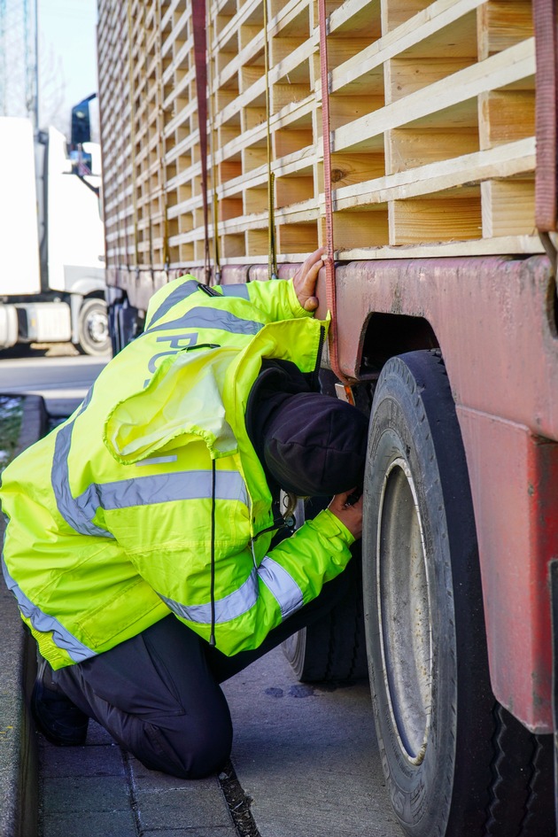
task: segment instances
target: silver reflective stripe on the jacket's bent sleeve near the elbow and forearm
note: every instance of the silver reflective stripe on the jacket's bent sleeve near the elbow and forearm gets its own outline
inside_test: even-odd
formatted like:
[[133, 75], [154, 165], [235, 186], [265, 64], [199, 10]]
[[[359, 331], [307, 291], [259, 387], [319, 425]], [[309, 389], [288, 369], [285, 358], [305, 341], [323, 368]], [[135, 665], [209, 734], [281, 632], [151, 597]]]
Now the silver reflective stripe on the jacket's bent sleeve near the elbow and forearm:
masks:
[[[238, 590], [229, 593], [222, 599], [215, 601], [215, 624], [222, 622], [230, 622], [238, 616], [242, 616], [247, 610], [253, 608], [258, 601], [259, 589], [258, 581], [262, 581], [266, 585], [270, 593], [273, 593], [275, 599], [281, 608], [281, 615], [283, 619], [291, 616], [295, 610], [298, 610], [303, 605], [302, 591], [294, 578], [285, 570], [280, 564], [270, 558], [268, 555], [260, 563], [256, 570], [252, 570], [250, 576], [244, 581]], [[182, 605], [173, 599], [167, 599], [159, 593], [160, 598], [165, 602], [177, 616], [182, 616], [182, 619], [187, 619], [189, 622], [196, 622], [198, 624], [211, 624], [211, 604], [203, 605]]]

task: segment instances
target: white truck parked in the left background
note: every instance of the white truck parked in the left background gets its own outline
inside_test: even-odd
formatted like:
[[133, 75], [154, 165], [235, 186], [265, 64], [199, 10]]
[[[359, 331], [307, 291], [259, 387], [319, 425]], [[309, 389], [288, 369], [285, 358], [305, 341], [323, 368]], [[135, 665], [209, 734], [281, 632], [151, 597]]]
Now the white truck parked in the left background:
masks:
[[72, 342], [81, 353], [110, 351], [101, 155], [86, 121], [89, 99], [74, 108], [68, 148], [57, 128], [0, 118], [0, 350]]

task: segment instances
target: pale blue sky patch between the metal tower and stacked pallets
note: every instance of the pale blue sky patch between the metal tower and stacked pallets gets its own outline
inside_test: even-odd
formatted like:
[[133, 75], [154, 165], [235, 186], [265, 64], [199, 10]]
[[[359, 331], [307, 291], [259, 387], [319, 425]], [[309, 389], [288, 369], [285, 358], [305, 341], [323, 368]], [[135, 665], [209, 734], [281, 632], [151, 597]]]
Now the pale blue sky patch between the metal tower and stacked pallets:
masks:
[[[58, 110], [69, 119], [72, 105], [97, 91], [97, 0], [38, 0], [38, 16], [39, 84], [52, 88], [56, 83], [62, 100]], [[44, 90], [43, 110], [52, 98]]]

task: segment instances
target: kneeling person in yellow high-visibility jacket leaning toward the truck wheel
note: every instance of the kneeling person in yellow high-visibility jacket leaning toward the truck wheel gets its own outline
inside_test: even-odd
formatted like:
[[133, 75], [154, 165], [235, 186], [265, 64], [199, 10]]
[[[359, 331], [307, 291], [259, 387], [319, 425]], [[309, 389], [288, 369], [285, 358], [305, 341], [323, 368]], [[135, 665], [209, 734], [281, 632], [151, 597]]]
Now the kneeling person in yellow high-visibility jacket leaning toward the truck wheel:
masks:
[[[89, 717], [148, 768], [229, 758], [220, 683], [344, 593], [367, 422], [320, 394], [315, 252], [290, 281], [151, 299], [144, 333], [4, 472], [4, 579], [38, 643], [38, 729]], [[334, 495], [270, 549], [280, 490]]]

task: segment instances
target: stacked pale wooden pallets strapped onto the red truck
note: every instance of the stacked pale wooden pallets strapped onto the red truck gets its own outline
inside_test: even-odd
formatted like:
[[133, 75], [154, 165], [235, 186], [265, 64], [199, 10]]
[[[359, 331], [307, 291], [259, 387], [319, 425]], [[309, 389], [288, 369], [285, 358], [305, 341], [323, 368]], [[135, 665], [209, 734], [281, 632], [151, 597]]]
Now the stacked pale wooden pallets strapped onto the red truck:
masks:
[[[277, 258], [299, 260], [325, 236], [318, 4], [206, 2], [209, 251], [267, 261], [273, 174]], [[326, 7], [337, 258], [541, 252], [531, 3]], [[200, 267], [191, 3], [99, 0], [98, 42], [108, 265]]]

